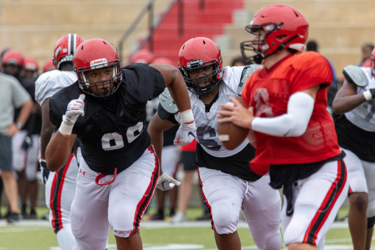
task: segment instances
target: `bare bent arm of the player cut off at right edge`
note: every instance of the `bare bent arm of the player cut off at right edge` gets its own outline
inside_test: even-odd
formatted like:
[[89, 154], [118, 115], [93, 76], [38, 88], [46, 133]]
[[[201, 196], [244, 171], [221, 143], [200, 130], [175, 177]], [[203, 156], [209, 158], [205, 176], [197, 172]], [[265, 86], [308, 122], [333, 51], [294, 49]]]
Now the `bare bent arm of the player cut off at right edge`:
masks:
[[332, 109], [336, 114], [342, 114], [351, 111], [364, 102], [367, 102], [367, 100], [363, 93], [357, 94], [357, 85], [345, 80], [333, 99]]

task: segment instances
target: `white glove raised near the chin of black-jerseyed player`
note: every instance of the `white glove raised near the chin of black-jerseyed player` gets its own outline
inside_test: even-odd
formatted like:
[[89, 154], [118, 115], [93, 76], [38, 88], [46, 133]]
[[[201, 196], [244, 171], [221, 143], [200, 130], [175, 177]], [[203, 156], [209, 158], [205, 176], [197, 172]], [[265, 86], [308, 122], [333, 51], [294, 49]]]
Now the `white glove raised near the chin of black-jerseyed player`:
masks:
[[63, 115], [63, 121], [58, 129], [63, 135], [71, 135], [73, 126], [78, 117], [84, 115], [85, 94], [80, 94], [78, 99], [71, 100], [66, 107], [66, 113]]

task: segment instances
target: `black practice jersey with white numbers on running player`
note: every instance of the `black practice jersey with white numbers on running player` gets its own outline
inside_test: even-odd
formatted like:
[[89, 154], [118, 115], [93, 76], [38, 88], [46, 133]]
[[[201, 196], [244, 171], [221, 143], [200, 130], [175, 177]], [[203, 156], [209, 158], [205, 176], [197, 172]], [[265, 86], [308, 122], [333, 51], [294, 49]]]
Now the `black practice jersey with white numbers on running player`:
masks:
[[[150, 146], [150, 136], [144, 129], [146, 103], [165, 88], [162, 74], [146, 64], [124, 67], [123, 79], [117, 91], [101, 100], [86, 94], [85, 114], [78, 117], [72, 133], [81, 141], [84, 160], [91, 169], [113, 174], [128, 168]], [[49, 118], [55, 131], [62, 122], [68, 103], [78, 99], [78, 82], [58, 91], [49, 100]]]

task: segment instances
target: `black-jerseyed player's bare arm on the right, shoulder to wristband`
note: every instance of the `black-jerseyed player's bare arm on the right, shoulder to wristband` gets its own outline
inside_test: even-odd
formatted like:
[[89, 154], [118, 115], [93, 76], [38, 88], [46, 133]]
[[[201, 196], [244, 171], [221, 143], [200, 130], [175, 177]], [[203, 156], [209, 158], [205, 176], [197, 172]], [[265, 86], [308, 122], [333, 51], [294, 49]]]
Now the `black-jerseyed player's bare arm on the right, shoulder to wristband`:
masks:
[[151, 67], [157, 69], [164, 78], [165, 87], [168, 87], [178, 110], [185, 111], [190, 109], [190, 98], [187, 93], [184, 78], [177, 67], [168, 64], [150, 64]]

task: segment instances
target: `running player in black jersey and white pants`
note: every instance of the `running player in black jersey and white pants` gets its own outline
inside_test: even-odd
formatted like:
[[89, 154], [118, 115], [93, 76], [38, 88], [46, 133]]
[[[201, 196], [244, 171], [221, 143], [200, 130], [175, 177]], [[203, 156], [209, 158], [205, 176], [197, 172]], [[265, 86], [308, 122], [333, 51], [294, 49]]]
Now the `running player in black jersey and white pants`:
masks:
[[140, 250], [139, 223], [155, 187], [179, 185], [160, 171], [144, 130], [146, 103], [168, 87], [182, 110], [176, 140], [186, 143], [185, 131], [195, 136], [196, 127], [183, 77], [167, 64], [120, 69], [117, 51], [102, 39], [81, 43], [73, 62], [78, 81], [49, 100], [56, 127], [46, 162], [51, 171], [62, 168], [80, 138], [82, 158], [71, 208], [74, 249], [105, 249], [112, 228], [117, 249]]

